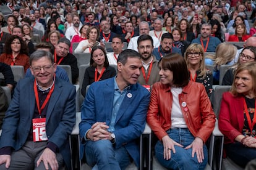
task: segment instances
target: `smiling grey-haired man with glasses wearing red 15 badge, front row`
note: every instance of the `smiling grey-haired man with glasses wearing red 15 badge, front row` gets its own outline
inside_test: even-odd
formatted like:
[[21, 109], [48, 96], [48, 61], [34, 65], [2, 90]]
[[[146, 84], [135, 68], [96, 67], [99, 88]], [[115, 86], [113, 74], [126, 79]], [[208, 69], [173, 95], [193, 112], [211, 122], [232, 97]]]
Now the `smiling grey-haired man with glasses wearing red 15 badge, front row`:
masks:
[[75, 87], [54, 76], [56, 63], [48, 51], [30, 56], [30, 70], [35, 78], [19, 81], [4, 118], [0, 169], [71, 169]]

